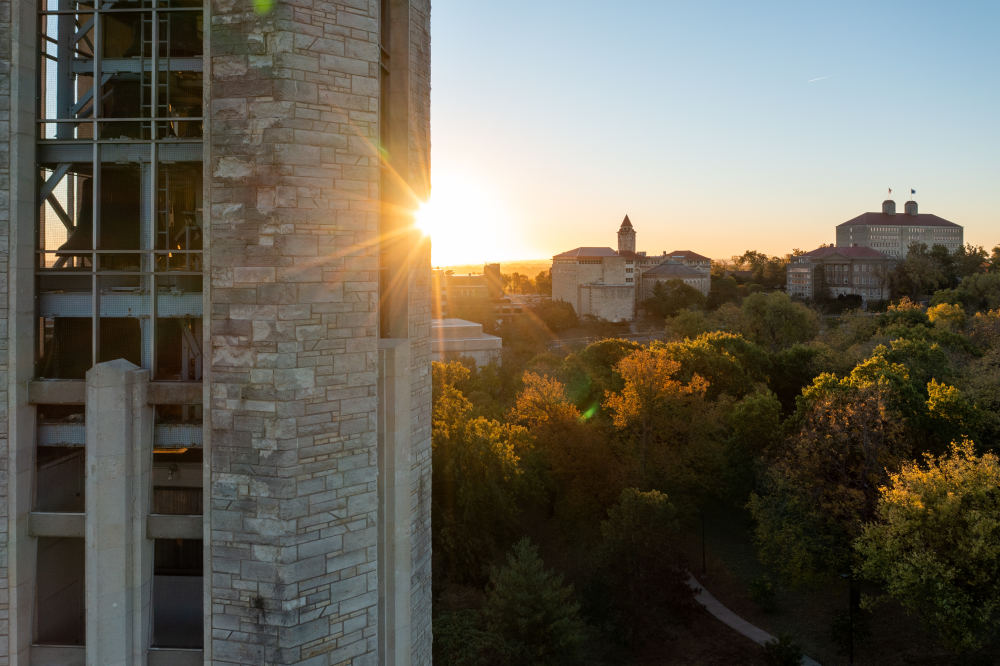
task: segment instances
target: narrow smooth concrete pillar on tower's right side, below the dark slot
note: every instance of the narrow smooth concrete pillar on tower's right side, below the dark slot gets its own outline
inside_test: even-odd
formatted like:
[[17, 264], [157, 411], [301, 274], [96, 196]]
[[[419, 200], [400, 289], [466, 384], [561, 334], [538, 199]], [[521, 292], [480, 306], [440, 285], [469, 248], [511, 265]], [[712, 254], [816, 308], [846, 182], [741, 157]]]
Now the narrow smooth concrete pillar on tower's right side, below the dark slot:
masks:
[[379, 340], [379, 653], [385, 666], [410, 666], [410, 341]]

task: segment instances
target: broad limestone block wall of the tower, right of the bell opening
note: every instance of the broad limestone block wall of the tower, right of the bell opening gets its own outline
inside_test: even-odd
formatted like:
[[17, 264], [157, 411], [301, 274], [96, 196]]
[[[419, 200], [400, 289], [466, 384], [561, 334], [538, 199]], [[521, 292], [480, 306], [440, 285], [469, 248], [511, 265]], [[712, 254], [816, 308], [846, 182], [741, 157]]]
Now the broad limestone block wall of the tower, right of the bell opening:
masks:
[[377, 12], [212, 5], [215, 664], [377, 662]]

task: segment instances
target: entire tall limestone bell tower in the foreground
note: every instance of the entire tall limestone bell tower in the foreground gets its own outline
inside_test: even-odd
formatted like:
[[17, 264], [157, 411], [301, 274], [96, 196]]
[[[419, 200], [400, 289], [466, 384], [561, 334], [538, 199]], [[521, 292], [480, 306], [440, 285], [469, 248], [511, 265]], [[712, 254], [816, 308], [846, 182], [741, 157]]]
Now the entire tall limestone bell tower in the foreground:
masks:
[[430, 663], [429, 29], [0, 3], [0, 666]]

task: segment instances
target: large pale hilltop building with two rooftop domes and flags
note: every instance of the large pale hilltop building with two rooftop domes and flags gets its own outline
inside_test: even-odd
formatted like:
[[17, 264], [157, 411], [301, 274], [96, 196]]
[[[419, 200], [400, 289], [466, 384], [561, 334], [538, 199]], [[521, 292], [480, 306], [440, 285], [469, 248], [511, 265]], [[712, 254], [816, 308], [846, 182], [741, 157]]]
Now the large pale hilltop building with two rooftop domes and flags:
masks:
[[944, 245], [950, 252], [965, 245], [963, 227], [937, 215], [917, 212], [917, 202], [907, 201], [902, 215], [896, 202], [886, 199], [881, 213], [863, 213], [837, 225], [837, 247], [870, 247], [890, 257], [905, 259], [910, 243], [928, 247]]

